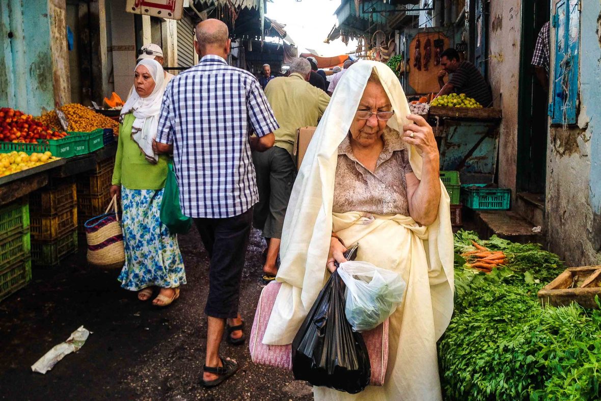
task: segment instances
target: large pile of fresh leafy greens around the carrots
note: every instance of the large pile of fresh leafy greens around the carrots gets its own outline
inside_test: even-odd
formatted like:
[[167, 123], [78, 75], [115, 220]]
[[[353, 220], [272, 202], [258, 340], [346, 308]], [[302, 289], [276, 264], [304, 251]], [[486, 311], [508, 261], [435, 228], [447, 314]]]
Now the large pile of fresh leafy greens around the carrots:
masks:
[[[601, 311], [542, 308], [537, 299], [564, 270], [557, 255], [472, 231], [454, 239], [455, 311], [439, 341], [446, 399], [600, 399]], [[459, 254], [474, 249], [472, 240], [503, 251], [507, 266], [465, 268]]]

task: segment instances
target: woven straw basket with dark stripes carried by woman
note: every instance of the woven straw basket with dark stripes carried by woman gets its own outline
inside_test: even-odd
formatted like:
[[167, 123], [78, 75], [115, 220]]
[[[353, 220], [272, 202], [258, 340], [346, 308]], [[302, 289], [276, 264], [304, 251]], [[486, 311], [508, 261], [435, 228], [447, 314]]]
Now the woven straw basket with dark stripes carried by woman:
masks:
[[[109, 213], [111, 208], [113, 210]], [[85, 237], [88, 242], [88, 263], [90, 265], [104, 269], [123, 268], [125, 250], [116, 195], [103, 215], [85, 222]]]

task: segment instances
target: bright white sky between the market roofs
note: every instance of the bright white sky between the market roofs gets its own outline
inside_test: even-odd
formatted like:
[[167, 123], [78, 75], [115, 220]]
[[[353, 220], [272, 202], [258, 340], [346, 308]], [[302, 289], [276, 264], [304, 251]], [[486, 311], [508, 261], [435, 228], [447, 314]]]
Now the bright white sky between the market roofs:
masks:
[[354, 52], [357, 47], [356, 41], [349, 41], [346, 46], [340, 38], [323, 43], [337, 23], [334, 11], [338, 6], [340, 0], [273, 0], [267, 2], [267, 17], [286, 26], [299, 54], [314, 49], [320, 55], [335, 56]]

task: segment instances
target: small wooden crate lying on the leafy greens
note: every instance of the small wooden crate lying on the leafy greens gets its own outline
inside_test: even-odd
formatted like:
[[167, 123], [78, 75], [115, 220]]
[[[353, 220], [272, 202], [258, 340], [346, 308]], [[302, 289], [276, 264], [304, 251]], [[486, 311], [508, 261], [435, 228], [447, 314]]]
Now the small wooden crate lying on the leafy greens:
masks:
[[584, 308], [599, 308], [595, 296], [601, 298], [601, 266], [568, 268], [538, 292], [543, 305], [564, 306], [576, 302]]

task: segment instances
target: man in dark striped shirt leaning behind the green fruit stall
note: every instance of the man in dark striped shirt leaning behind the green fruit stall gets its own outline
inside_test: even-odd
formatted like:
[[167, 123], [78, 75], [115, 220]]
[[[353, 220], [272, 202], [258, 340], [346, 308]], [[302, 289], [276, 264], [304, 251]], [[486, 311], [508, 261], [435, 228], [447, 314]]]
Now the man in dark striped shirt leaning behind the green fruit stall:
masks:
[[[482, 107], [492, 106], [492, 91], [490, 86], [474, 64], [469, 61], [460, 61], [459, 53], [449, 48], [441, 54], [442, 70], [438, 73], [438, 84], [441, 91], [437, 96], [450, 93], [465, 93], [467, 97], [475, 99]], [[453, 74], [445, 84], [444, 77]]]

